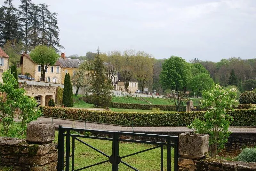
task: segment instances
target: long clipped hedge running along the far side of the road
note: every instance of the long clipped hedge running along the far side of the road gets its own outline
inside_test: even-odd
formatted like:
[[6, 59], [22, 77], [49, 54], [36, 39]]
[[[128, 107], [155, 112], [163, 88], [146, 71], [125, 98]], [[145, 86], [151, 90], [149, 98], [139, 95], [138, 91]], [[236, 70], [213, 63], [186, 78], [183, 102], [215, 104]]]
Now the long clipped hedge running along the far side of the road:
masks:
[[[44, 116], [86, 120], [118, 125], [187, 126], [195, 118], [203, 119], [204, 111], [177, 113], [125, 113], [73, 108], [40, 107]], [[228, 111], [234, 117], [231, 126], [256, 126], [256, 109]]]

